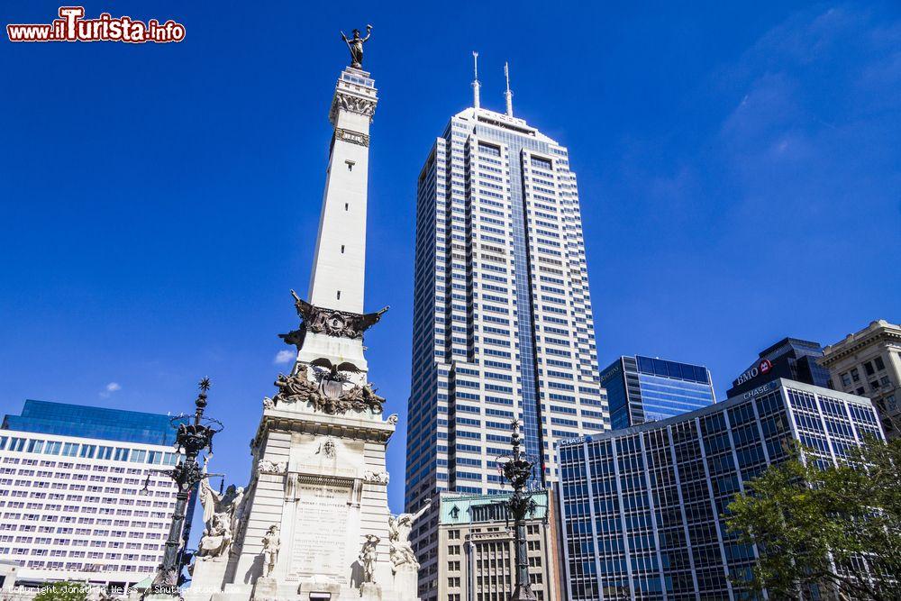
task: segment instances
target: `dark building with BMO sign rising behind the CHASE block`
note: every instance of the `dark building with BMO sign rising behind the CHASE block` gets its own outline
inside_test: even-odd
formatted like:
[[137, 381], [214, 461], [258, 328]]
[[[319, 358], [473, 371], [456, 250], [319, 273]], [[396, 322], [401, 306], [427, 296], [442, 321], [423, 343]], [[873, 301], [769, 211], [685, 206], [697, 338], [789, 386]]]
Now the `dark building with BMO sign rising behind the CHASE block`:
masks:
[[829, 383], [829, 370], [816, 362], [823, 357], [819, 342], [797, 338], [783, 338], [765, 351], [757, 360], [733, 380], [733, 387], [726, 392], [732, 398], [753, 390], [774, 378], [786, 378], [825, 387]]

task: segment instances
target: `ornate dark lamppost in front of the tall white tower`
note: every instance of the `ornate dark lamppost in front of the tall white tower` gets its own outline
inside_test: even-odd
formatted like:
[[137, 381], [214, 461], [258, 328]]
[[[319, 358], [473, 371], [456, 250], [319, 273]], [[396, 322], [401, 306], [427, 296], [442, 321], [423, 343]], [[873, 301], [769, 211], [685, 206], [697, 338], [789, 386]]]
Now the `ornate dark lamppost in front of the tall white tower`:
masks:
[[532, 582], [529, 580], [529, 558], [525, 547], [525, 515], [532, 508], [532, 493], [526, 492], [526, 483], [532, 476], [532, 467], [535, 460], [529, 458], [520, 449], [523, 441], [519, 433], [519, 420], [513, 420], [510, 424], [513, 435], [510, 442], [513, 444], [513, 452], [510, 455], [498, 459], [498, 464], [504, 474], [504, 478], [513, 487], [513, 496], [506, 502], [510, 513], [514, 517], [514, 541], [516, 550], [516, 586], [511, 601], [523, 599], [536, 600], [538, 597], [532, 592]]

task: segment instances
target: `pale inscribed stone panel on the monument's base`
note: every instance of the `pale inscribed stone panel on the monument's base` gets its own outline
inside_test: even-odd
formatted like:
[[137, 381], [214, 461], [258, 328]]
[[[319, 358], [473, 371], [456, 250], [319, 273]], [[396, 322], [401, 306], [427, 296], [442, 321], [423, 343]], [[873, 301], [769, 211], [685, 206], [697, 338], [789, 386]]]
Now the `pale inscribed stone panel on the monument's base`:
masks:
[[298, 485], [292, 574], [330, 576], [347, 583], [350, 567], [344, 563], [350, 492], [350, 483]]

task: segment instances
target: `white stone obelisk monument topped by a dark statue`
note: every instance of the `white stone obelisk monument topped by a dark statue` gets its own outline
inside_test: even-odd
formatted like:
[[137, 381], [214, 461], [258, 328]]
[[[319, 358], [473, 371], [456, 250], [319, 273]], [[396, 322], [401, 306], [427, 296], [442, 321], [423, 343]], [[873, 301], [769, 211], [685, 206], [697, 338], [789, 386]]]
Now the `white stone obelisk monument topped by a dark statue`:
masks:
[[370, 31], [341, 33], [351, 64], [329, 112], [309, 301], [291, 291], [300, 327], [280, 334], [296, 346], [295, 365], [263, 399], [246, 491], [202, 497], [209, 520], [200, 547], [213, 551], [192, 566], [192, 601], [417, 597], [407, 537], [418, 516], [392, 517], [387, 506], [385, 451], [397, 418], [383, 419], [385, 399], [363, 357], [363, 332], [385, 311], [363, 313], [369, 124], [378, 103], [362, 69]]

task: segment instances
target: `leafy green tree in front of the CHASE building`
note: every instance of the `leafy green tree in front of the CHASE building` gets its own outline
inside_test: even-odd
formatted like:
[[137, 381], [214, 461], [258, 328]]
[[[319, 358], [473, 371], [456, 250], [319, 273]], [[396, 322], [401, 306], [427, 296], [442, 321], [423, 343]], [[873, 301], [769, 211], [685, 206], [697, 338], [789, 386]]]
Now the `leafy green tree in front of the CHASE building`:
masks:
[[901, 440], [869, 440], [840, 467], [810, 451], [770, 466], [735, 496], [724, 519], [760, 560], [754, 590], [770, 598], [901, 599]]

